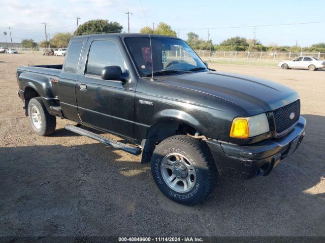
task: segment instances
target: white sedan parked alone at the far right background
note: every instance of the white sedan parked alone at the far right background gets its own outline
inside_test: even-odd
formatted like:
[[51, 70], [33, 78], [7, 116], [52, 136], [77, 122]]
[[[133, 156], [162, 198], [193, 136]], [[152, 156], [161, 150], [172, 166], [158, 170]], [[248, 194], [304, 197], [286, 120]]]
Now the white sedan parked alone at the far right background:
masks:
[[297, 57], [291, 61], [280, 62], [278, 67], [282, 67], [283, 69], [303, 68], [315, 71], [318, 68], [325, 68], [325, 61], [320, 61], [317, 57], [312, 56]]

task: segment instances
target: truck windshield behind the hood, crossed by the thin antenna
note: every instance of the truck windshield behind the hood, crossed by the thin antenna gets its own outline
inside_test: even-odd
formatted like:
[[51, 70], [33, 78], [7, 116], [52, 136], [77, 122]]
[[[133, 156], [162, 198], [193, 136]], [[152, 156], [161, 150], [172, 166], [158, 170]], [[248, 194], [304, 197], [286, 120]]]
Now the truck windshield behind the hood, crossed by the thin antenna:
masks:
[[[126, 37], [125, 44], [141, 76], [151, 73], [149, 37]], [[208, 70], [199, 56], [181, 39], [151, 37], [153, 72]], [[192, 70], [191, 70], [192, 71]]]

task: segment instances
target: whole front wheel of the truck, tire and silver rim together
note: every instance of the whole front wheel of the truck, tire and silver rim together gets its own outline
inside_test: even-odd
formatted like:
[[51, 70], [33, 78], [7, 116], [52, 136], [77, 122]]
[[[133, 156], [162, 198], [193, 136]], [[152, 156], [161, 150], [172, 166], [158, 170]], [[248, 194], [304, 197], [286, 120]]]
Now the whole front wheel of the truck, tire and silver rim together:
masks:
[[216, 165], [206, 143], [186, 135], [169, 137], [157, 145], [151, 173], [166, 197], [184, 205], [200, 203], [217, 181]]

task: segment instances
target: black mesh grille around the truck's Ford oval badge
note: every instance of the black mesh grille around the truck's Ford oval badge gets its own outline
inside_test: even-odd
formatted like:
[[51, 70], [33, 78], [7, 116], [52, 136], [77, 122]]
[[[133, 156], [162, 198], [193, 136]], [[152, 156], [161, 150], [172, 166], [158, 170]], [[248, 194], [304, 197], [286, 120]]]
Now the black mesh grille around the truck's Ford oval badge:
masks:
[[[290, 118], [290, 114], [294, 113], [295, 117]], [[277, 134], [281, 134], [291, 126], [293, 126], [300, 116], [300, 100], [285, 105], [273, 111], [275, 130]]]

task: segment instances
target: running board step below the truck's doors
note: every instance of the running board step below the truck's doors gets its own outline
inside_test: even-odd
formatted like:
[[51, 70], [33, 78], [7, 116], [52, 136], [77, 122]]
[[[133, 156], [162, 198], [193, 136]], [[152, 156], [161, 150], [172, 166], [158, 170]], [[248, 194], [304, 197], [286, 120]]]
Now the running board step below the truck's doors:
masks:
[[135, 148], [135, 147], [128, 146], [128, 145], [126, 145], [124, 143], [114, 141], [112, 139], [106, 138], [106, 137], [104, 137], [102, 135], [98, 135], [98, 134], [89, 132], [89, 131], [84, 130], [82, 128], [79, 128], [79, 127], [76, 127], [76, 126], [73, 126], [73, 125], [70, 125], [70, 124], [66, 125], [65, 128], [67, 130], [71, 131], [71, 132], [86, 136], [88, 138], [92, 138], [92, 139], [94, 139], [96, 141], [99, 141], [101, 143], [110, 145], [110, 146], [112, 146], [112, 147], [114, 147], [116, 149], [123, 150], [123, 151], [125, 151], [127, 153], [131, 153], [133, 155], [140, 155], [141, 154], [141, 149], [140, 148]]

